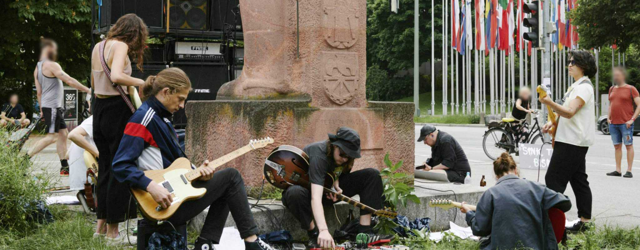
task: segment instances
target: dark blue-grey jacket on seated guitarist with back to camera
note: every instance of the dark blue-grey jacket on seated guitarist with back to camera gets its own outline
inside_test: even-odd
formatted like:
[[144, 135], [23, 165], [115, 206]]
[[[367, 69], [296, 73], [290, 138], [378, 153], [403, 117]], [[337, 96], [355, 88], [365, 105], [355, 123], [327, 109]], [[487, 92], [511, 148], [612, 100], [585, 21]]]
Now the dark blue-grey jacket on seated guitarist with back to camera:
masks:
[[490, 244], [483, 250], [556, 250], [548, 210], [555, 207], [567, 212], [571, 201], [538, 182], [505, 175], [484, 191], [476, 207], [476, 212], [467, 212], [466, 219], [474, 235], [491, 235]]

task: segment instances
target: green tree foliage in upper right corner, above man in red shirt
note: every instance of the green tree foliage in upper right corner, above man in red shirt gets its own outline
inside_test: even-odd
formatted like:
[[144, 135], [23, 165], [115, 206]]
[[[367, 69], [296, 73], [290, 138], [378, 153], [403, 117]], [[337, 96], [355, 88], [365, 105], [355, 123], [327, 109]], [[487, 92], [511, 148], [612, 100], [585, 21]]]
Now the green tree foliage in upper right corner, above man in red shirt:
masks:
[[598, 48], [616, 44], [626, 51], [640, 44], [640, 8], [636, 0], [580, 0], [569, 13], [578, 26], [580, 47]]

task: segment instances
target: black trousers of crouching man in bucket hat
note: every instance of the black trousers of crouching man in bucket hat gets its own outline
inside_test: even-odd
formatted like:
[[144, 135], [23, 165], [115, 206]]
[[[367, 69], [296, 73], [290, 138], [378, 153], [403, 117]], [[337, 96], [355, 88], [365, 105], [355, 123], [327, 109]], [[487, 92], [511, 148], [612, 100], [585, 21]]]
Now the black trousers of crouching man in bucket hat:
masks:
[[[339, 178], [339, 186], [344, 196], [360, 195], [360, 202], [374, 209], [382, 208], [382, 179], [380, 171], [365, 168], [353, 171]], [[282, 204], [289, 208], [291, 214], [298, 219], [303, 230], [309, 230], [309, 224], [314, 219], [311, 208], [311, 191], [294, 185], [282, 192]], [[323, 195], [323, 205], [331, 205], [333, 201]], [[371, 214], [367, 210], [360, 210], [360, 215]]]

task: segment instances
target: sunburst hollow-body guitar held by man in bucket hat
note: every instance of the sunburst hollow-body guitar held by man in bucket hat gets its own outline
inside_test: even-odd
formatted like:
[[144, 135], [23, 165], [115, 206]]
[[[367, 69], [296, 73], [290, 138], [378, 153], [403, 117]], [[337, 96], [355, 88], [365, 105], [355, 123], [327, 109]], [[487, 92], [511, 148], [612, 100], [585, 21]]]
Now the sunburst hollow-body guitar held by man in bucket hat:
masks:
[[[282, 145], [274, 148], [264, 161], [264, 177], [271, 185], [286, 190], [292, 185], [300, 185], [306, 189], [311, 189], [309, 182], [309, 157], [307, 153], [294, 146]], [[395, 219], [397, 212], [388, 209], [376, 210], [351, 199], [342, 194], [337, 194], [333, 189], [335, 176], [333, 173], [327, 173], [324, 177], [323, 193], [335, 194], [338, 199], [353, 205], [356, 208], [367, 210], [374, 215]]]

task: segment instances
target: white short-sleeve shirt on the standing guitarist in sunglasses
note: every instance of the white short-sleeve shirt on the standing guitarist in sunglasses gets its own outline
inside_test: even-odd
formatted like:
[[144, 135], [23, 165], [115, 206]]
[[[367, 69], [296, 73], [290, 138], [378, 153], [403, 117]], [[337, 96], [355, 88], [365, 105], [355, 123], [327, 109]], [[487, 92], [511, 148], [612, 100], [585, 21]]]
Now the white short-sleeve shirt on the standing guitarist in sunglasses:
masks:
[[[575, 146], [591, 146], [596, 136], [596, 111], [595, 94], [589, 78], [584, 76], [573, 82], [567, 92], [571, 91], [569, 97], [564, 100], [564, 107], [569, 107], [569, 103], [576, 97], [584, 100], [584, 106], [573, 115], [571, 119], [560, 117], [556, 132], [556, 141], [568, 143]], [[582, 83], [582, 84], [580, 84]]]

